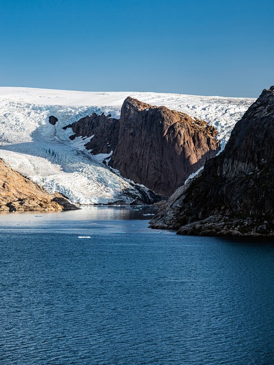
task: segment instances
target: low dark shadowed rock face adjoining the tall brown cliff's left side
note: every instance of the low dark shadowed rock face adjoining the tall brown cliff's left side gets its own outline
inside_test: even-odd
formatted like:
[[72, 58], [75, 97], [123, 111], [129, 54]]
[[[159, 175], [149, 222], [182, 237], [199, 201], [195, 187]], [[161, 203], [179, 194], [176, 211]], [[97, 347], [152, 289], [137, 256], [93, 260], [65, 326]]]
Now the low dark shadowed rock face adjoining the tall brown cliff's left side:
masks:
[[72, 128], [75, 137], [92, 137], [89, 142], [85, 144], [88, 150], [92, 150], [93, 155], [99, 153], [109, 154], [114, 150], [117, 144], [119, 133], [119, 119], [111, 118], [111, 114], [105, 115], [96, 113], [87, 115], [79, 119], [77, 122], [64, 127], [63, 129]]

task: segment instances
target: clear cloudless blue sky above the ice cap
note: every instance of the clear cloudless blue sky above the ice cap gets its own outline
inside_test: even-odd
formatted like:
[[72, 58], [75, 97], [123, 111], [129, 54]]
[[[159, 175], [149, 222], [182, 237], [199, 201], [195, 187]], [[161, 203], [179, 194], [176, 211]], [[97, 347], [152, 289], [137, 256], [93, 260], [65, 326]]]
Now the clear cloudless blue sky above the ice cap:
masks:
[[0, 0], [0, 86], [255, 97], [274, 0]]

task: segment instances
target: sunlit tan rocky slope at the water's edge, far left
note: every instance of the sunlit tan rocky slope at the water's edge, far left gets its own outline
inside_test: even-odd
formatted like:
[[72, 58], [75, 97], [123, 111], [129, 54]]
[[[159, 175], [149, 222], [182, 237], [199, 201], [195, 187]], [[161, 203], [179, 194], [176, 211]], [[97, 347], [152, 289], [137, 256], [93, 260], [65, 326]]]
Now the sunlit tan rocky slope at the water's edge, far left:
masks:
[[59, 193], [48, 194], [0, 159], [0, 211], [78, 209]]

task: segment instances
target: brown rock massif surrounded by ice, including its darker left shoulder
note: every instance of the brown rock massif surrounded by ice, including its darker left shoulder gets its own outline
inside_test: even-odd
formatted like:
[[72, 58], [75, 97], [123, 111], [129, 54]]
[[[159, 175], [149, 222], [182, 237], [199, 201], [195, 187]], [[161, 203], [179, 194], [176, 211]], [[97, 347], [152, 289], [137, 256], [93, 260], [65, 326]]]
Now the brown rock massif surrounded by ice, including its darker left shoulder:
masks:
[[166, 107], [126, 98], [120, 119], [92, 114], [70, 124], [75, 137], [92, 137], [92, 154], [113, 151], [108, 164], [124, 178], [169, 196], [220, 150], [206, 122]]

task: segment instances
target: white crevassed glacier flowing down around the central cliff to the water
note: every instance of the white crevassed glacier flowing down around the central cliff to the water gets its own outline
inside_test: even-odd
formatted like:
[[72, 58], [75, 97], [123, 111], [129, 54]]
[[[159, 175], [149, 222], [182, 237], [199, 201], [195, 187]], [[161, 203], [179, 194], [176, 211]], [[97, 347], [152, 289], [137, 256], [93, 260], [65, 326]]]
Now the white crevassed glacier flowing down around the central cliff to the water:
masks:
[[[146, 188], [108, 168], [103, 161], [109, 155], [91, 155], [84, 144], [92, 137], [71, 141], [71, 129], [63, 130], [92, 113], [118, 118], [127, 96], [205, 120], [218, 130], [222, 148], [235, 123], [255, 101], [157, 92], [0, 87], [0, 158], [49, 193], [58, 191], [72, 203], [131, 204], [139, 189]], [[50, 115], [58, 118], [55, 125], [49, 124]]]

